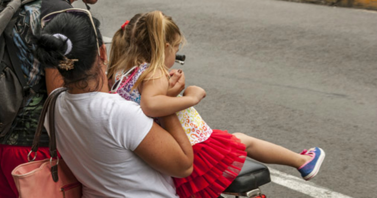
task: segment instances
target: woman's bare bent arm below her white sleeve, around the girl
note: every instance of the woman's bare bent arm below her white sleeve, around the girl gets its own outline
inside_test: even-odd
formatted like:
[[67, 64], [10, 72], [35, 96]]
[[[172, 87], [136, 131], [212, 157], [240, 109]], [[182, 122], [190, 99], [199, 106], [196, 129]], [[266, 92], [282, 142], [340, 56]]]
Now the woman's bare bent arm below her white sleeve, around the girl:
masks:
[[161, 173], [178, 178], [189, 176], [193, 170], [193, 151], [178, 117], [173, 114], [160, 121], [169, 132], [153, 122], [134, 152]]

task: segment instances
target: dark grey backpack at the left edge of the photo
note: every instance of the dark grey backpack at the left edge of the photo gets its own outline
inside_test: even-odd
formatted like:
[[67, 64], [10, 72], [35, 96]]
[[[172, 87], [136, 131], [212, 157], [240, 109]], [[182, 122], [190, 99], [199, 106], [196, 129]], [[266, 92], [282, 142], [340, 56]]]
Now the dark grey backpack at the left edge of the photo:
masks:
[[43, 83], [33, 87], [21, 69], [13, 28], [23, 5], [34, 0], [0, 0], [0, 138], [10, 130], [18, 112]]

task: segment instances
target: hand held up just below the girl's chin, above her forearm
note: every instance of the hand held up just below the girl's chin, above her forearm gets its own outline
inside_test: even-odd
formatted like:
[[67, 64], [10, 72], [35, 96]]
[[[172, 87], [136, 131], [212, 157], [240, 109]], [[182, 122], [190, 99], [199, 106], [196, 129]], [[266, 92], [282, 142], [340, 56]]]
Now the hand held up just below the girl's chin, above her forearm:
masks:
[[167, 96], [176, 97], [185, 88], [185, 75], [181, 69], [173, 69], [169, 72], [170, 82]]

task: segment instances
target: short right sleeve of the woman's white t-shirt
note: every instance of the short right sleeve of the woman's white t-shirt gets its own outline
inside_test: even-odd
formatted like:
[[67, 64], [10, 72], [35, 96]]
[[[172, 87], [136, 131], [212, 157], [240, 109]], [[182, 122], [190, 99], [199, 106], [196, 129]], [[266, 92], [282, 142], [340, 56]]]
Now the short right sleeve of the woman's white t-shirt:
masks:
[[111, 115], [116, 141], [126, 149], [135, 150], [152, 128], [153, 119], [147, 117], [137, 103], [118, 101], [116, 106]]

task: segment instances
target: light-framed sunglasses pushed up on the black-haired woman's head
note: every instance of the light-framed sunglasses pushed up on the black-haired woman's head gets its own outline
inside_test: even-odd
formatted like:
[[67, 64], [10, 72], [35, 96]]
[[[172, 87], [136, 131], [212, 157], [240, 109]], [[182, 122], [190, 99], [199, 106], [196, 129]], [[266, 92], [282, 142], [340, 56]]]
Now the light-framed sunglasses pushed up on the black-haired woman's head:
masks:
[[54, 17], [56, 17], [60, 13], [72, 13], [72, 14], [76, 14], [76, 15], [86, 15], [86, 16], [89, 17], [90, 22], [92, 23], [93, 30], [94, 30], [94, 33], [95, 33], [95, 38], [96, 38], [96, 41], [97, 41], [98, 55], [100, 55], [100, 45], [98, 43], [98, 34], [97, 34], [97, 30], [96, 30], [95, 25], [94, 25], [92, 14], [90, 14], [89, 10], [80, 9], [80, 8], [69, 8], [69, 9], [64, 9], [64, 10], [61, 10], [61, 11], [51, 12], [50, 14], [44, 16], [41, 19], [41, 27], [44, 28], [44, 26], [46, 26], [46, 23], [48, 23], [48, 21], [51, 21]]

